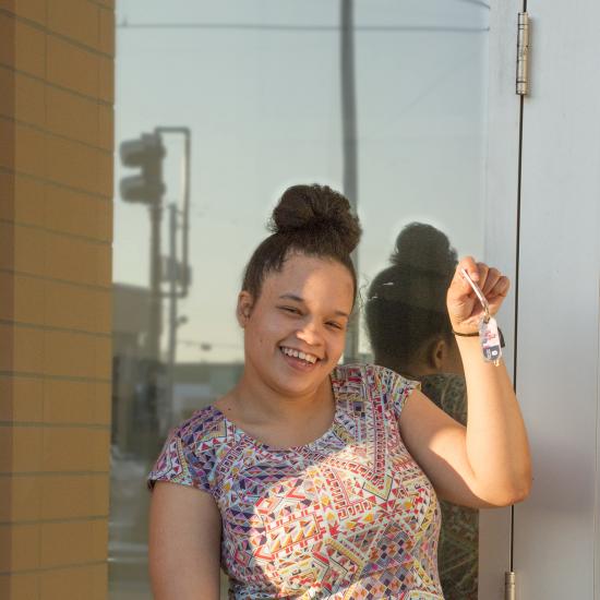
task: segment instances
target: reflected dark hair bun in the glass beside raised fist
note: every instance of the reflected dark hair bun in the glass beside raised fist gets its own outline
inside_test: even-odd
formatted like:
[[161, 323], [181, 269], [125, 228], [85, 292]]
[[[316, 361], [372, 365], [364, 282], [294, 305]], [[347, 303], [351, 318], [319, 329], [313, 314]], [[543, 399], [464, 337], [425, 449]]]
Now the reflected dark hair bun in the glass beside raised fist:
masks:
[[443, 231], [425, 223], [411, 223], [396, 238], [389, 261], [396, 266], [446, 274], [456, 268], [457, 255]]

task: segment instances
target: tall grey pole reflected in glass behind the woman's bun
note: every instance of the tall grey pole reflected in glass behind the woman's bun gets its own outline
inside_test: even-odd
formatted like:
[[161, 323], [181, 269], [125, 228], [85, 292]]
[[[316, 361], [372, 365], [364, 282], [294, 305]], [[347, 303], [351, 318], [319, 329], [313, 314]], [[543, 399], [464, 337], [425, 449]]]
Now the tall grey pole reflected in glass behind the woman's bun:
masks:
[[[340, 91], [341, 91], [341, 128], [343, 128], [343, 168], [344, 195], [350, 201], [352, 212], [358, 206], [358, 135], [357, 103], [355, 84], [355, 32], [353, 1], [340, 0]], [[352, 252], [352, 261], [359, 273], [358, 249]], [[359, 313], [355, 311], [346, 335], [344, 362], [359, 360], [358, 348]]]

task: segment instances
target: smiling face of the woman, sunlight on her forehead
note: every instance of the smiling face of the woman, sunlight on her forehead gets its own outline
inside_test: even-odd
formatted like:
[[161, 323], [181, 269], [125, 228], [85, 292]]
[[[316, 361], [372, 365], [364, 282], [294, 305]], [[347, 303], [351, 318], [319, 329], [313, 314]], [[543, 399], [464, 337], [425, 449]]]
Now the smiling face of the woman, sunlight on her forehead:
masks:
[[292, 254], [269, 273], [254, 300], [242, 291], [245, 376], [285, 396], [314, 393], [344, 351], [353, 283], [332, 260]]

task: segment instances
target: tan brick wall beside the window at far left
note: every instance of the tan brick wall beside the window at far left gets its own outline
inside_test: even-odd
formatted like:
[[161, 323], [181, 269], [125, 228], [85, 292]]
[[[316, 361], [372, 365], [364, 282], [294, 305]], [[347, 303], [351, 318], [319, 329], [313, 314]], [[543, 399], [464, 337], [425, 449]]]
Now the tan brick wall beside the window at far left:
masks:
[[115, 2], [0, 0], [0, 598], [107, 597]]

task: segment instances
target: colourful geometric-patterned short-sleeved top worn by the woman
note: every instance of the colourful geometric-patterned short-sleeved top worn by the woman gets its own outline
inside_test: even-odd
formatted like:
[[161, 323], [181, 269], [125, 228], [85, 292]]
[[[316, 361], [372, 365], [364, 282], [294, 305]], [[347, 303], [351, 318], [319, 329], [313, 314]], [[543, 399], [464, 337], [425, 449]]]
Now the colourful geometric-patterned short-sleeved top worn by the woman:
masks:
[[441, 600], [439, 503], [397, 424], [418, 385], [338, 367], [332, 427], [286, 449], [208, 406], [175, 430], [148, 479], [215, 499], [230, 598]]

